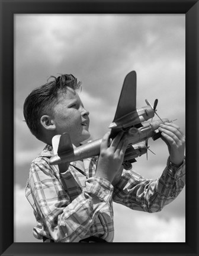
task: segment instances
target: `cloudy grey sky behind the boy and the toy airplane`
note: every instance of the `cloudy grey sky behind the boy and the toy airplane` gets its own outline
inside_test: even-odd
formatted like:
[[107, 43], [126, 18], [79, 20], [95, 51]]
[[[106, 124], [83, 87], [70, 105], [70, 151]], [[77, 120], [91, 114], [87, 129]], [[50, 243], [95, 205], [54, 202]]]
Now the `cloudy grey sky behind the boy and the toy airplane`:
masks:
[[[25, 198], [31, 161], [44, 148], [24, 122], [23, 104], [50, 75], [73, 74], [82, 81], [81, 100], [90, 114], [91, 139], [108, 131], [124, 78], [137, 74], [137, 108], [159, 100], [161, 118], [177, 119], [185, 133], [184, 14], [15, 14], [14, 15], [14, 239], [34, 238], [33, 210]], [[133, 169], [158, 178], [168, 149], [161, 139]], [[185, 188], [159, 213], [114, 203], [114, 242], [185, 242]]]

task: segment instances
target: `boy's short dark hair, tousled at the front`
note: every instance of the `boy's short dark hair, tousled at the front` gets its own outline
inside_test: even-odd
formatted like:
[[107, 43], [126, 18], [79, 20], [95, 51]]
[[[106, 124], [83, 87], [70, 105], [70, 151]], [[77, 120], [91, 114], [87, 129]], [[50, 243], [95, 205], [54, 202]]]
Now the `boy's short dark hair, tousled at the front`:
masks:
[[[24, 102], [24, 118], [31, 133], [41, 140], [41, 124], [40, 118], [43, 115], [52, 113], [52, 107], [57, 100], [57, 93], [66, 90], [67, 87], [78, 90], [81, 82], [72, 74], [60, 75], [59, 77], [50, 76], [53, 81], [34, 89], [25, 99]], [[50, 79], [49, 78], [49, 79]]]

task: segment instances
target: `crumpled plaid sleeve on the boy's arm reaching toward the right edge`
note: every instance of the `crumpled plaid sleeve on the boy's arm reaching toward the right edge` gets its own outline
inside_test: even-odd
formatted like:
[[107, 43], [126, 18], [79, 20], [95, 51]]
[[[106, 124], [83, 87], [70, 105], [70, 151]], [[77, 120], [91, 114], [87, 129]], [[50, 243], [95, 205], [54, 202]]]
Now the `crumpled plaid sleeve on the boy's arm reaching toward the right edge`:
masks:
[[179, 195], [185, 185], [185, 159], [175, 167], [168, 159], [158, 179], [145, 179], [131, 170], [124, 170], [115, 185], [113, 200], [133, 210], [155, 213]]

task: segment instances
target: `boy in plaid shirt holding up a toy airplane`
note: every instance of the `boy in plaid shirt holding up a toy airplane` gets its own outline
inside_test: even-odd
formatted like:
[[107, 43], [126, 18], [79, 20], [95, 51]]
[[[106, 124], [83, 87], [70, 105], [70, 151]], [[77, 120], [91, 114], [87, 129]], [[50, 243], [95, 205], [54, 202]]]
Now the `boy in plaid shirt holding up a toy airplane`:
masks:
[[33, 234], [44, 242], [113, 242], [113, 201], [153, 213], [173, 201], [185, 185], [185, 137], [175, 124], [159, 128], [169, 159], [159, 179], [147, 180], [121, 165], [128, 141], [121, 132], [110, 146], [104, 135], [100, 156], [50, 166], [52, 138], [68, 132], [74, 147], [87, 140], [89, 112], [79, 98], [80, 83], [61, 75], [33, 90], [24, 103], [30, 131], [47, 144], [31, 163], [25, 195], [34, 209]]

